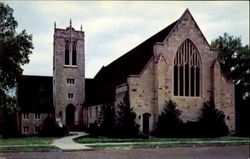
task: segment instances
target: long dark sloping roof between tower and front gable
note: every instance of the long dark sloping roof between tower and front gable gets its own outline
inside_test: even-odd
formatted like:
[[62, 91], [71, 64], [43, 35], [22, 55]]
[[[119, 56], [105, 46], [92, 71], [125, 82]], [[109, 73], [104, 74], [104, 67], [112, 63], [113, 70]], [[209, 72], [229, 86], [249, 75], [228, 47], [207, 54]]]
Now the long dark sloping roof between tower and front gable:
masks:
[[[177, 22], [178, 20], [119, 57], [108, 66], [102, 67], [91, 82], [92, 84], [94, 83], [93, 86], [86, 86], [92, 87], [91, 90], [95, 90], [95, 97], [92, 100], [88, 100], [86, 97], [86, 105], [113, 102], [116, 86], [126, 83], [129, 75], [137, 75], [143, 70], [148, 61], [154, 56], [154, 44], [163, 42]], [[86, 95], [88, 93], [88, 90], [86, 90]]]

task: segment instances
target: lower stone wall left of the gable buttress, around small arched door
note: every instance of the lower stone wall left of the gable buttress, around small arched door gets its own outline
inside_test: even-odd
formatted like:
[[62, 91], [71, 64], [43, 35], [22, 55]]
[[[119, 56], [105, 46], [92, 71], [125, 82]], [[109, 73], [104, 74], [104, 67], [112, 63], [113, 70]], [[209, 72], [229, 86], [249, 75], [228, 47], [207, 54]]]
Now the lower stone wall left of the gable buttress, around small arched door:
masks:
[[155, 117], [155, 65], [154, 59], [151, 59], [145, 70], [138, 76], [130, 76], [128, 78], [130, 106], [133, 107], [137, 114], [137, 123], [142, 131], [142, 116], [149, 113], [150, 125], [149, 130], [154, 129]]

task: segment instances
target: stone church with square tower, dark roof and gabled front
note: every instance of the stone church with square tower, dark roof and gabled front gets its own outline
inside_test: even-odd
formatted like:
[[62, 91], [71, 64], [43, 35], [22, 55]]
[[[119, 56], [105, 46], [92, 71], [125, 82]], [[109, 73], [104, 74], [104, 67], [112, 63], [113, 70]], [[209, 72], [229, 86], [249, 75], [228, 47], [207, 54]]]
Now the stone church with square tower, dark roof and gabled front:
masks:
[[[84, 32], [71, 25], [55, 27], [53, 116], [69, 128], [88, 126], [98, 119], [102, 104], [117, 106], [128, 95], [140, 132], [150, 133], [167, 100], [177, 103], [183, 121], [197, 121], [204, 102], [212, 100], [234, 133], [234, 83], [223, 76], [217, 54], [187, 9], [177, 21], [103, 66], [93, 79], [85, 79]], [[20, 104], [19, 116], [23, 108]], [[19, 125], [23, 129], [24, 123]]]

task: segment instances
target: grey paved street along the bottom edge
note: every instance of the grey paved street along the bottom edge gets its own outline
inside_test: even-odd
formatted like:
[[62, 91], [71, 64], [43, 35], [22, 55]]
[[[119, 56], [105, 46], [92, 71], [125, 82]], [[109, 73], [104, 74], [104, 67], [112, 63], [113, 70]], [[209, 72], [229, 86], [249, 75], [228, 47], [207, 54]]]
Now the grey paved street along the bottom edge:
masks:
[[0, 153], [0, 159], [248, 159], [249, 145]]

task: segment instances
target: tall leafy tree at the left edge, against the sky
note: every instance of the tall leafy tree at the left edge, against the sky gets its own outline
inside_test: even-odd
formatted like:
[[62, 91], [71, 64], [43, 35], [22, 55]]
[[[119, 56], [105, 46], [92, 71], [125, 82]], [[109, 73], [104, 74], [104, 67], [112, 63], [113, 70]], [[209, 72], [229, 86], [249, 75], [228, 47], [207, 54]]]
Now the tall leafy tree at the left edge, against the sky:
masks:
[[[0, 111], [4, 112], [5, 124], [14, 118], [14, 98], [8, 95], [16, 85], [18, 76], [22, 74], [21, 66], [29, 62], [32, 53], [32, 36], [25, 30], [16, 32], [17, 21], [13, 17], [13, 9], [0, 2]], [[7, 127], [4, 128], [7, 131]]]

